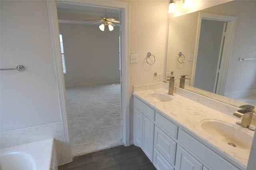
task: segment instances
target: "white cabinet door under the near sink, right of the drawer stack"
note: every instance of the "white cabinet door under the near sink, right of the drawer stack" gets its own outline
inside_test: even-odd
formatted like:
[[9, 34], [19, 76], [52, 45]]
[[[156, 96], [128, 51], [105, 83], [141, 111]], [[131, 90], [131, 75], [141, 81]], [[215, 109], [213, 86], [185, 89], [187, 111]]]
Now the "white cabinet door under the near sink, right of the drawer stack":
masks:
[[182, 147], [178, 146], [176, 153], [175, 170], [202, 170], [203, 164], [189, 154]]

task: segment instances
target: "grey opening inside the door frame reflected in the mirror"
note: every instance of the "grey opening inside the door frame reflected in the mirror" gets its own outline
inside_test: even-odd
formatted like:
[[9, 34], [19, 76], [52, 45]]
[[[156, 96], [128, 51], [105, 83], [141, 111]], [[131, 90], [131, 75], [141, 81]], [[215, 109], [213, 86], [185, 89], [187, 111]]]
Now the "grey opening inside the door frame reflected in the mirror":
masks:
[[218, 94], [226, 21], [202, 19], [194, 87]]

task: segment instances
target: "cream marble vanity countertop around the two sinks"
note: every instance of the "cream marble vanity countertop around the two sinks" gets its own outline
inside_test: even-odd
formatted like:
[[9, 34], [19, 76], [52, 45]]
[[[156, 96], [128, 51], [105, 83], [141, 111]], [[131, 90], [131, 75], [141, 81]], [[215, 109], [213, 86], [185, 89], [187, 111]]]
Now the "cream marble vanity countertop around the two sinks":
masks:
[[[154, 85], [153, 85], [154, 86]], [[159, 88], [160, 87], [160, 88]], [[140, 89], [140, 90], [138, 90]], [[148, 92], [162, 92], [168, 93], [166, 87], [161, 88], [159, 84], [149, 90], [148, 88], [141, 88], [137, 86], [134, 89], [133, 95], [140, 98], [146, 104], [156, 109], [164, 117], [168, 118], [173, 123], [176, 123], [181, 129], [184, 129], [190, 135], [195, 137], [198, 141], [214, 150], [217, 154], [224, 157], [238, 168], [246, 169], [248, 158], [250, 155], [249, 149], [241, 149], [239, 147], [232, 147], [222, 141], [217, 140], [214, 136], [206, 133], [200, 127], [200, 121], [203, 119], [217, 119], [233, 124], [238, 128], [242, 128], [254, 135], [254, 131], [236, 125], [238, 119], [226, 115], [216, 109], [204, 106], [198, 102], [175, 94], [172, 96], [173, 100], [170, 102], [156, 102], [147, 97]], [[246, 139], [245, 139], [246, 140]]]

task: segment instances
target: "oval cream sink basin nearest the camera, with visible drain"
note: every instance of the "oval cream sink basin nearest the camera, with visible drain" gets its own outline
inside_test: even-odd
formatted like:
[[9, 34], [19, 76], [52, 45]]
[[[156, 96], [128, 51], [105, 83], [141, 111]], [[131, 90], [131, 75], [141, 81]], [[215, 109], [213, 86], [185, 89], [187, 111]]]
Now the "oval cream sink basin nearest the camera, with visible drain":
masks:
[[253, 135], [242, 129], [242, 127], [216, 119], [204, 119], [200, 121], [200, 126], [216, 139], [232, 147], [251, 149]]

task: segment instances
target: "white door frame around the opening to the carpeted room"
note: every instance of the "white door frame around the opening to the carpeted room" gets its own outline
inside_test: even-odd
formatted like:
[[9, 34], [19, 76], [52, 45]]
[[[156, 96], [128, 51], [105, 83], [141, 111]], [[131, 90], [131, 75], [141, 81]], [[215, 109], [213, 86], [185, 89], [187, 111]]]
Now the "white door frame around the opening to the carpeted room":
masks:
[[121, 49], [121, 133], [125, 146], [130, 145], [130, 111], [129, 111], [129, 3], [118, 1], [95, 1], [95, 0], [48, 0], [48, 12], [50, 20], [50, 31], [52, 38], [52, 46], [54, 53], [54, 64], [56, 68], [56, 77], [60, 98], [60, 109], [62, 116], [63, 136], [66, 149], [67, 161], [72, 161], [72, 149], [70, 130], [68, 123], [68, 109], [66, 104], [66, 89], [64, 81], [64, 73], [62, 69], [62, 59], [60, 52], [59, 28], [57, 3], [74, 4], [82, 6], [95, 6], [102, 8], [112, 8], [120, 10], [120, 49]]

